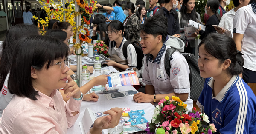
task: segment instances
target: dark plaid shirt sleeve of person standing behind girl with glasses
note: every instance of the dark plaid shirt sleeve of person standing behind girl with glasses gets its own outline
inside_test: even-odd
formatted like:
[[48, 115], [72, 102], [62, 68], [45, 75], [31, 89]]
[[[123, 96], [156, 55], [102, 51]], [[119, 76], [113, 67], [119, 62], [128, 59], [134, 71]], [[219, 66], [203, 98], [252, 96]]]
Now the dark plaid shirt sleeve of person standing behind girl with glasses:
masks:
[[139, 25], [140, 21], [137, 17], [129, 19], [129, 22], [126, 23], [125, 31], [128, 31], [129, 39], [131, 39], [132, 36], [135, 36], [136, 32], [140, 29]]

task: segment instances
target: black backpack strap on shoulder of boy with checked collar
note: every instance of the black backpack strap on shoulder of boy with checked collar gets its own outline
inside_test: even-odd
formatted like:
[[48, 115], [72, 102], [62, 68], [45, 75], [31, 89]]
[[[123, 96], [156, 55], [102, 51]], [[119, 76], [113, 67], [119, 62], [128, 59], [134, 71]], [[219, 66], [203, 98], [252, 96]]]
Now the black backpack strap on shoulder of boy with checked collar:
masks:
[[171, 69], [171, 63], [170, 61], [172, 60], [172, 54], [176, 50], [174, 48], [168, 48], [166, 50], [166, 55], [164, 57], [164, 68], [166, 69], [166, 74], [170, 77], [170, 69]]

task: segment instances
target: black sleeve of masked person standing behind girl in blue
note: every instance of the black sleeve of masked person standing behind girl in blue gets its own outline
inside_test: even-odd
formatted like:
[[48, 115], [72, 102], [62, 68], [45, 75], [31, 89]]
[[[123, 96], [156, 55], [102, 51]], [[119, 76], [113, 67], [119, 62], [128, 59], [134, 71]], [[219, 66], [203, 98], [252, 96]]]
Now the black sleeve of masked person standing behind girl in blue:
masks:
[[210, 17], [207, 21], [207, 25], [205, 27], [205, 31], [201, 30], [199, 31], [200, 39], [203, 40], [209, 33], [216, 32], [214, 27], [212, 25], [218, 25], [218, 22], [214, 20], [214, 18]]

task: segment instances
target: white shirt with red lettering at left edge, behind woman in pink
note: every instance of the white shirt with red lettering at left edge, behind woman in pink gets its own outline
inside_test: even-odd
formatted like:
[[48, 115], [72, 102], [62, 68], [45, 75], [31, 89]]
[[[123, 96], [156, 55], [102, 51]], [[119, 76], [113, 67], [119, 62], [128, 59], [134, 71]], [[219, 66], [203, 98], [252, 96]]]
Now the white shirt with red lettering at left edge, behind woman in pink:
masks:
[[7, 87], [9, 75], [10, 73], [7, 74], [0, 92], [0, 117], [2, 117], [3, 110], [6, 108], [13, 97], [13, 94], [9, 92]]

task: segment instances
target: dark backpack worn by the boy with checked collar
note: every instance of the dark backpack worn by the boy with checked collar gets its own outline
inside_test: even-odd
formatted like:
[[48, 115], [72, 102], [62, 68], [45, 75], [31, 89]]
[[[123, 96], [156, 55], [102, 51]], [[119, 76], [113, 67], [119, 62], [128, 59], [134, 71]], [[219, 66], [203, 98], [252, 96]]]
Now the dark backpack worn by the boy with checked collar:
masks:
[[[166, 50], [165, 59], [164, 59], [164, 67], [166, 70], [166, 74], [170, 77], [170, 61], [172, 60], [172, 54], [176, 50], [174, 48], [168, 48]], [[180, 53], [182, 54], [188, 65], [189, 65], [189, 83], [190, 83], [190, 98], [192, 100], [198, 100], [203, 88], [204, 88], [204, 78], [200, 76], [200, 70], [198, 68], [197, 60], [195, 59], [194, 54], [190, 53]], [[150, 54], [147, 54], [147, 59]], [[148, 60], [146, 60], [148, 66]]]

